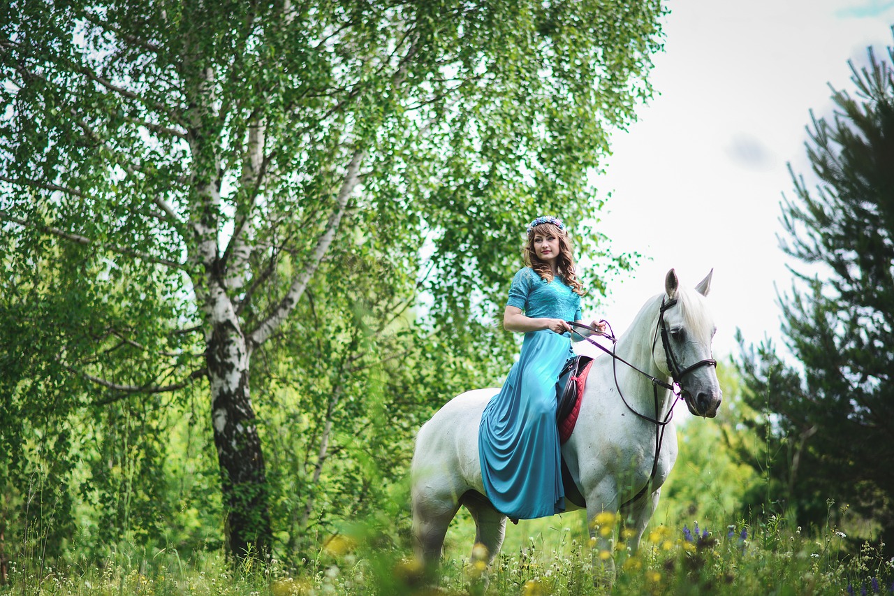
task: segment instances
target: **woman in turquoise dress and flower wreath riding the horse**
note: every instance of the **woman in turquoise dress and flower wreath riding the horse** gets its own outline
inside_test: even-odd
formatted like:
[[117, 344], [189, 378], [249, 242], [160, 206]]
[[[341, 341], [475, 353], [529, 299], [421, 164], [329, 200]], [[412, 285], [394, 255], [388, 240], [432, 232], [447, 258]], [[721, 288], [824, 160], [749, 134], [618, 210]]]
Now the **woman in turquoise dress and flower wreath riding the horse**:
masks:
[[525, 264], [503, 312], [503, 328], [525, 334], [519, 362], [485, 407], [478, 432], [487, 498], [512, 520], [565, 510], [555, 384], [572, 355], [566, 321], [580, 322], [585, 294], [559, 218], [537, 217], [527, 226]]

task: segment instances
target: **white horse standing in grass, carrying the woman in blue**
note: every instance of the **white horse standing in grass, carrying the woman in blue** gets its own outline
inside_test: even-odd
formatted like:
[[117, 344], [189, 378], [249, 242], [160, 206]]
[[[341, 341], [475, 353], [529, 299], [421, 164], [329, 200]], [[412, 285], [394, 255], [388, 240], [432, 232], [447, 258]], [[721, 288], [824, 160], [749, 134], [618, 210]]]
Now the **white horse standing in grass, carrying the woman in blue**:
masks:
[[[676, 394], [668, 381], [679, 384], [691, 413], [717, 414], [721, 387], [711, 357], [714, 326], [704, 301], [712, 274], [692, 292], [679, 286], [671, 269], [665, 293], [646, 302], [618, 339], [617, 359], [600, 356], [590, 370], [577, 426], [561, 454], [586, 500], [597, 549], [611, 552], [611, 536], [596, 535], [596, 515], [616, 514], [623, 506], [634, 531], [629, 543], [636, 549], [658, 505], [677, 458], [671, 418]], [[473, 559], [490, 565], [502, 546], [506, 516], [485, 498], [478, 460], [481, 413], [498, 392], [476, 389], [453, 398], [417, 434], [410, 466], [413, 536], [417, 558], [429, 571], [440, 561], [447, 526], [460, 505], [468, 508], [476, 543], [484, 546], [472, 550]], [[567, 510], [581, 508], [567, 497]], [[611, 558], [605, 565], [613, 572]]]

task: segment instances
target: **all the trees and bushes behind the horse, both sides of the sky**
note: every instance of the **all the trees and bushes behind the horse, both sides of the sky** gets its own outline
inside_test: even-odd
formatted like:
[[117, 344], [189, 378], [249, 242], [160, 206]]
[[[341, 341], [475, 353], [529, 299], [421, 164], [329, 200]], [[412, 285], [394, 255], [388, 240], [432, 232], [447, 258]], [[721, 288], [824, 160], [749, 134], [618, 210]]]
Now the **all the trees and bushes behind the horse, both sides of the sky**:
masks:
[[[409, 550], [415, 431], [517, 349], [494, 321], [523, 223], [566, 218], [597, 300], [637, 260], [595, 232], [593, 174], [653, 93], [657, 2], [5, 11], [4, 581], [134, 545], [296, 573], [333, 537]], [[789, 255], [831, 268], [783, 301], [797, 364], [743, 343], [721, 367], [655, 524], [890, 535], [864, 465], [894, 345], [872, 64], [813, 123], [820, 191], [794, 174], [783, 207]]]

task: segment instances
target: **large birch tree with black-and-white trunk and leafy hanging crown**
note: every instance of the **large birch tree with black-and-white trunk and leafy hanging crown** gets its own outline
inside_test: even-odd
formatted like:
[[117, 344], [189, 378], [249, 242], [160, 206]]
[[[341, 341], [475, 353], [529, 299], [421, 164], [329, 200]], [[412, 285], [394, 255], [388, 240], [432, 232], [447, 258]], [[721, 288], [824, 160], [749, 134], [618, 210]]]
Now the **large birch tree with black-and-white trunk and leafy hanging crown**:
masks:
[[68, 291], [89, 299], [44, 354], [94, 404], [207, 382], [237, 557], [272, 535], [252, 354], [333, 245], [399, 258], [460, 333], [520, 226], [595, 216], [588, 175], [651, 93], [662, 14], [657, 0], [0, 10], [4, 267], [33, 288], [39, 263], [69, 259]]

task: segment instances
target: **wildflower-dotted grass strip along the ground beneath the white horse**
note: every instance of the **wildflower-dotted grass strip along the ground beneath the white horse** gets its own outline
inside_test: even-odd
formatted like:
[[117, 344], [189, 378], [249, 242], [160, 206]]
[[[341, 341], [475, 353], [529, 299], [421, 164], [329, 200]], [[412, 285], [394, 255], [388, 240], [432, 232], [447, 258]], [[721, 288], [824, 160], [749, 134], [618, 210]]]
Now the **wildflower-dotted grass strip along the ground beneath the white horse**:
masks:
[[[606, 521], [606, 520], [603, 520]], [[605, 524], [604, 527], [609, 527]], [[781, 517], [764, 523], [685, 522], [647, 529], [634, 553], [614, 527], [614, 583], [595, 573], [608, 556], [591, 548], [583, 515], [566, 514], [510, 525], [490, 570], [468, 560], [468, 518], [451, 527], [443, 575], [435, 592], [421, 581], [403, 549], [375, 540], [329, 537], [300, 568], [274, 560], [265, 568], [233, 570], [220, 552], [188, 557], [173, 549], [149, 552], [122, 546], [103, 561], [51, 568], [13, 560], [0, 594], [845, 594], [894, 592], [892, 562], [879, 549], [851, 545], [834, 527], [808, 534]], [[597, 528], [597, 531], [602, 527]], [[367, 534], [368, 536], [368, 534]]]

